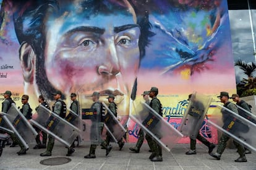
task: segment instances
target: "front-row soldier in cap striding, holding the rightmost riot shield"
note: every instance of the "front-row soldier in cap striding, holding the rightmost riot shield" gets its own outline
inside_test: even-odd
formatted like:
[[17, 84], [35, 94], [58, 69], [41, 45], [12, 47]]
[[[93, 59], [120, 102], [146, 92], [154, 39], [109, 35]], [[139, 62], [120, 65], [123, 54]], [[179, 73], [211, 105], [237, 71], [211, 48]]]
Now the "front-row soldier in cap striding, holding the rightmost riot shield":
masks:
[[[229, 110], [238, 114], [238, 110], [237, 110], [236, 105], [228, 101], [228, 99], [229, 99], [228, 92], [221, 91], [220, 96], [218, 96], [218, 97], [220, 97], [221, 103], [224, 103], [225, 108], [228, 108]], [[226, 114], [224, 115], [224, 111], [221, 111], [221, 113], [223, 114], [223, 123], [227, 124], [229, 115], [226, 115]], [[220, 138], [220, 142], [218, 143], [217, 152], [216, 153], [210, 153], [210, 155], [213, 156], [213, 158], [216, 158], [217, 160], [220, 160], [221, 154], [225, 150], [226, 143], [228, 142], [228, 140], [229, 140], [229, 137], [225, 134], [222, 134], [221, 138]], [[236, 141], [233, 141], [233, 142], [234, 142], [234, 145], [237, 148], [237, 152], [239, 153], [239, 158], [237, 158], [235, 160], [235, 162], [247, 162], [247, 159], [244, 155], [244, 147], [242, 145], [240, 145], [239, 143], [237, 143]]]

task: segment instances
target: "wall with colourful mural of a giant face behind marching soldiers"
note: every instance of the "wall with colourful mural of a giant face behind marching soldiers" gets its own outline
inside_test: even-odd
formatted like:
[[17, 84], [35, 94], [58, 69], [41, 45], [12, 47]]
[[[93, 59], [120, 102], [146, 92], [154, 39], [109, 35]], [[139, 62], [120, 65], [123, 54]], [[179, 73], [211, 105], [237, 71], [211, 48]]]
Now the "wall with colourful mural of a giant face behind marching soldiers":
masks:
[[[220, 91], [236, 92], [226, 0], [3, 0], [0, 63], [1, 101], [11, 90], [21, 106], [27, 94], [35, 111], [39, 95], [53, 104], [51, 93], [61, 90], [68, 106], [77, 93], [90, 108], [99, 91], [106, 104], [115, 95], [122, 122], [152, 86], [176, 128], [193, 91], [211, 96], [211, 108]], [[134, 142], [139, 127], [127, 126]], [[201, 134], [216, 142], [207, 119]]]

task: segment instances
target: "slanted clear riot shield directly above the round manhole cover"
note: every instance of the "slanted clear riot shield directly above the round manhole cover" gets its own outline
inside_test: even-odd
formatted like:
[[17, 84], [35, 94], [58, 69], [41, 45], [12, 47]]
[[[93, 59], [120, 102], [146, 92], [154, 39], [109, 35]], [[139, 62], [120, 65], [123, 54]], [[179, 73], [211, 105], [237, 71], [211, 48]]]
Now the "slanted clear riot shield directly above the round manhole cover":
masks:
[[77, 127], [70, 124], [65, 119], [62, 119], [58, 114], [53, 113], [41, 104], [30, 122], [67, 147], [72, 145], [80, 132]]

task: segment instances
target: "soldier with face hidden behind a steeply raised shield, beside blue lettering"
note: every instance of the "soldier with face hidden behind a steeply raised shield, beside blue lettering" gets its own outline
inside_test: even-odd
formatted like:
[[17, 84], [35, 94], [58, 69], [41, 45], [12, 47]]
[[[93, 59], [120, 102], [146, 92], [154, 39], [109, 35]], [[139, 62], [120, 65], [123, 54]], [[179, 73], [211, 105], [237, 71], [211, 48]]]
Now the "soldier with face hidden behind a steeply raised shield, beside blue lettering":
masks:
[[[190, 101], [192, 94], [189, 95], [189, 98], [187, 100]], [[195, 112], [197, 112], [197, 114], [203, 114], [202, 111], [204, 109], [203, 104], [196, 100], [194, 98], [194, 109], [196, 109]], [[192, 109], [189, 111], [189, 114], [193, 114], [192, 113]], [[197, 140], [199, 140], [200, 142], [202, 142], [204, 145], [206, 145], [208, 147], [208, 153], [211, 153], [211, 151], [213, 151], [213, 149], [215, 148], [215, 145], [213, 143], [208, 142], [208, 140], [204, 137], [202, 137], [202, 135], [200, 135], [200, 132], [198, 132], [197, 135]], [[196, 154], [197, 151], [195, 150], [195, 144], [197, 143], [197, 140], [190, 138], [190, 150], [186, 152], [186, 155], [192, 155], [192, 154]]]

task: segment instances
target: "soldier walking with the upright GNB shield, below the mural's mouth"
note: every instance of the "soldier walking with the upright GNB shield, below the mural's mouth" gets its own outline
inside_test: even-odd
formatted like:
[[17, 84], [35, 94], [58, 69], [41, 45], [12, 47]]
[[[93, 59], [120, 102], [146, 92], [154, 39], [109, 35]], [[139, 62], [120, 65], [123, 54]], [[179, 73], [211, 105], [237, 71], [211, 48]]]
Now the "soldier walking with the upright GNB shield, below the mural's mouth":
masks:
[[[91, 128], [92, 129], [97, 129], [97, 132], [92, 132], [91, 138], [94, 138], [93, 137], [94, 135], [97, 135], [97, 137], [100, 137], [101, 132], [102, 132], [103, 127], [104, 127], [104, 117], [102, 115], [103, 106], [101, 106], [99, 98], [100, 98], [100, 93], [94, 91], [93, 95], [92, 95], [92, 100], [93, 100], [94, 103], [92, 104], [91, 109], [96, 109], [96, 113], [97, 113], [96, 116], [97, 117], [96, 117], [95, 120], [92, 119], [92, 127]], [[98, 128], [95, 128], [95, 126], [98, 126]], [[96, 133], [96, 134], [93, 134], [93, 133]], [[108, 145], [106, 143], [106, 141], [103, 140], [102, 138], [100, 138], [100, 142], [101, 142], [101, 147], [106, 149], [106, 156], [108, 156], [109, 152], [112, 150], [112, 146]], [[92, 142], [92, 144], [90, 146], [90, 152], [89, 152], [88, 155], [85, 155], [84, 158], [96, 158], [96, 156], [95, 156], [96, 147], [97, 147], [97, 144]]]

